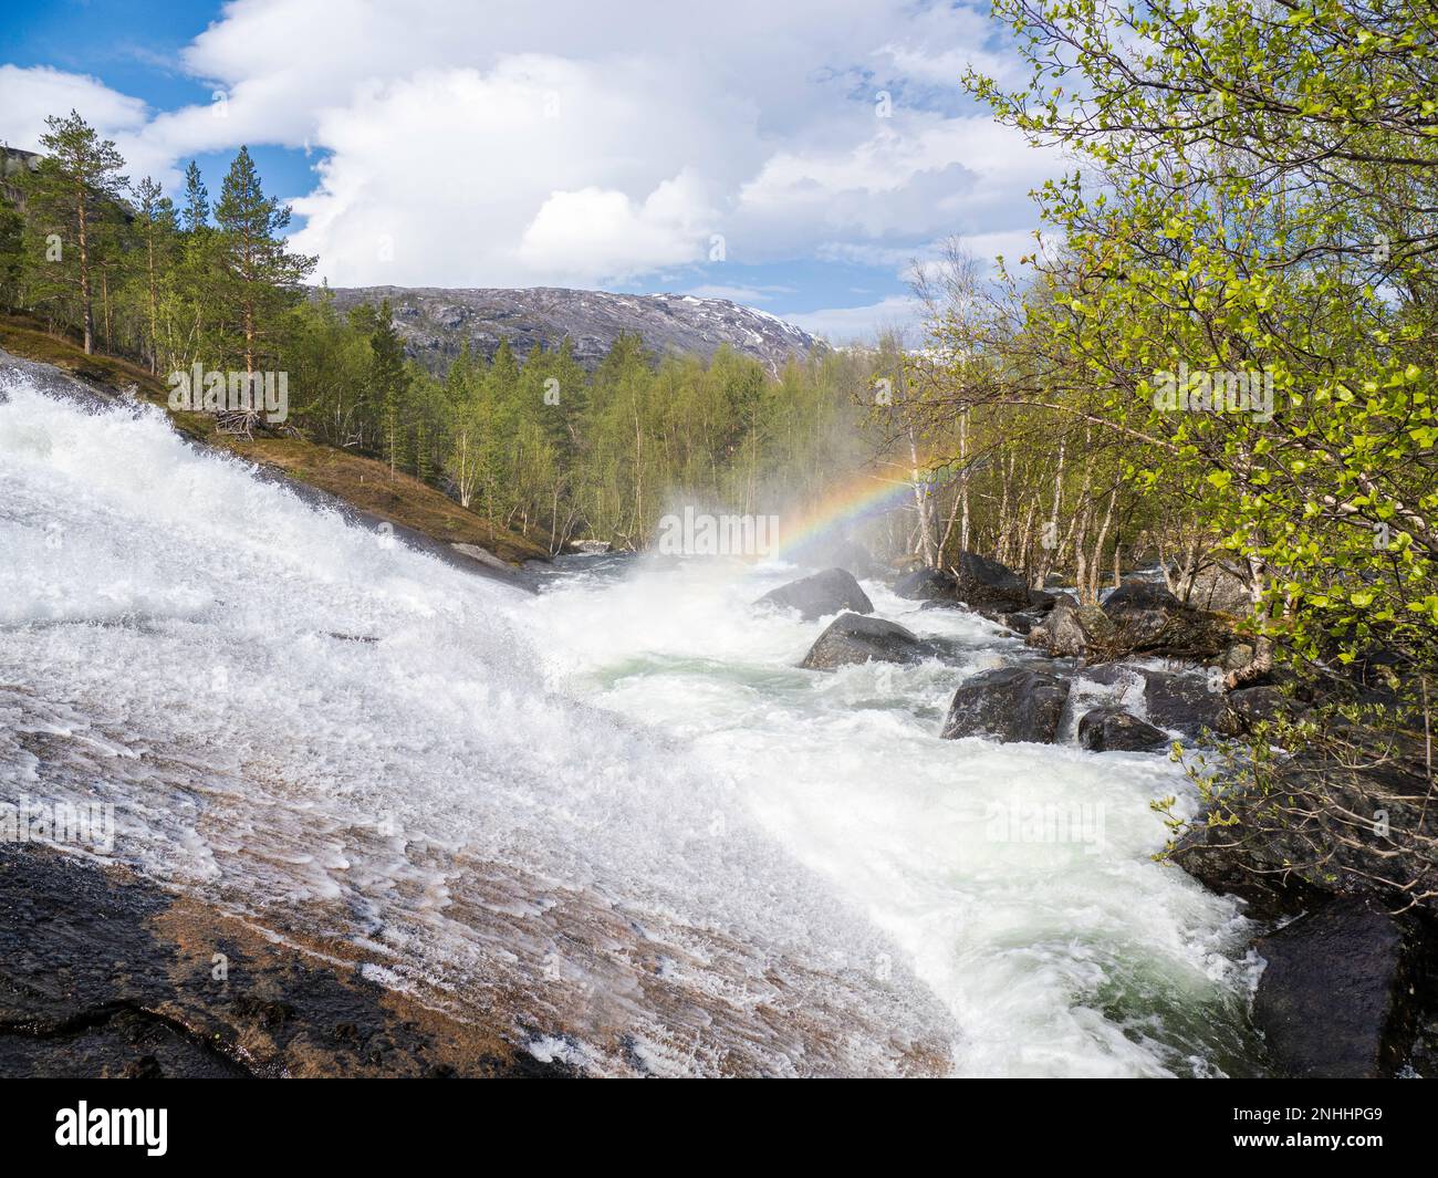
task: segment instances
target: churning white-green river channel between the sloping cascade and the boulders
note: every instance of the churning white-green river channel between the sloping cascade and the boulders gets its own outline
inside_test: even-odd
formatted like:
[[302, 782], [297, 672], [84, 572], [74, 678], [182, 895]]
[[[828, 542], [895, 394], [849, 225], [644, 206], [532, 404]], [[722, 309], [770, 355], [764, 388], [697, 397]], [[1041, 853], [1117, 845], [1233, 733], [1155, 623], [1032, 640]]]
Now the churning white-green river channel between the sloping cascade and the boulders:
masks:
[[[749, 608], [798, 575], [649, 561], [528, 613], [558, 688], [684, 738], [748, 813], [900, 946], [961, 1028], [965, 1074], [1244, 1072], [1251, 962], [1231, 902], [1152, 862], [1176, 765], [939, 741], [953, 689], [1031, 657], [1008, 631], [864, 583], [946, 657], [797, 669], [831, 618]], [[1071, 725], [1070, 725], [1071, 726]]]

